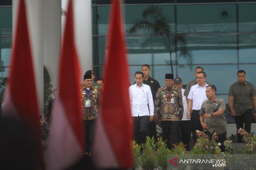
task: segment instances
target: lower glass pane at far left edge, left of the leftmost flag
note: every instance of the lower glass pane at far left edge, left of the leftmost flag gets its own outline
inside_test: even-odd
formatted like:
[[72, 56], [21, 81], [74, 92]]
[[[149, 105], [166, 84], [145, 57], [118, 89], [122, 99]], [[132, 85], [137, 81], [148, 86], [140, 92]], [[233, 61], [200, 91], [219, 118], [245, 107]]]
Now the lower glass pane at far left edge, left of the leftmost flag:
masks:
[[0, 38], [0, 42], [0, 66], [9, 66], [12, 38]]

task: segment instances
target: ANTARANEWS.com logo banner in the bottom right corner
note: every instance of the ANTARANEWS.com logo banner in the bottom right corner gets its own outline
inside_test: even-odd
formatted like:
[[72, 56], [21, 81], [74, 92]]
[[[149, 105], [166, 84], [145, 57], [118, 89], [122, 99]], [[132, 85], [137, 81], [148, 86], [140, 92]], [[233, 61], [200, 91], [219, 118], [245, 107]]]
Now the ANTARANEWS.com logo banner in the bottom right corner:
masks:
[[256, 154], [168, 154], [167, 169], [256, 169]]

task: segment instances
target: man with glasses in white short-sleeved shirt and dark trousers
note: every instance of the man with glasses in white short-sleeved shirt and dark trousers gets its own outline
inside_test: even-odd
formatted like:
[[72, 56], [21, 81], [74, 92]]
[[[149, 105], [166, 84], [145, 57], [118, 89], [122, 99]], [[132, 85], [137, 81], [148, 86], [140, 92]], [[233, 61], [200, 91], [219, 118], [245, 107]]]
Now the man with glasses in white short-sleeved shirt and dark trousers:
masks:
[[[197, 140], [196, 136], [196, 130], [203, 131], [203, 128], [200, 123], [200, 109], [202, 106], [202, 103], [207, 100], [206, 97], [206, 87], [209, 86], [206, 84], [206, 73], [205, 72], [199, 72], [196, 77], [197, 84], [192, 86], [189, 94], [188, 94], [188, 112], [187, 112], [187, 118], [191, 118], [191, 130], [192, 135], [194, 139], [194, 145]], [[189, 111], [192, 108], [192, 113]]]

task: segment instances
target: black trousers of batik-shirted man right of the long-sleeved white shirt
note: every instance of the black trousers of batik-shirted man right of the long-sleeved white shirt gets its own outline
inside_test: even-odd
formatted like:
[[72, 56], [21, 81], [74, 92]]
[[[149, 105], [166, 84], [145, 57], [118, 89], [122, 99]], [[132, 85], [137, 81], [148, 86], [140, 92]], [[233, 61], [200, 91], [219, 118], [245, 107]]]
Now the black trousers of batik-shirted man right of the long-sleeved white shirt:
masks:
[[172, 144], [180, 142], [180, 121], [161, 121], [163, 131], [163, 141], [166, 141], [169, 149], [173, 148]]

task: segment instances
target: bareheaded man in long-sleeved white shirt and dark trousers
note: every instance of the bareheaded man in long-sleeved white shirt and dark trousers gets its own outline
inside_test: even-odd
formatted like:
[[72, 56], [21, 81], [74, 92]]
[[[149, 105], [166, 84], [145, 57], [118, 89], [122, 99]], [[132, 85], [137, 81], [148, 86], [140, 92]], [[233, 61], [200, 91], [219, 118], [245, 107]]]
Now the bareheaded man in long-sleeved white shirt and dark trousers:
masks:
[[129, 87], [130, 105], [134, 124], [134, 140], [138, 143], [146, 142], [147, 124], [154, 118], [154, 102], [150, 87], [143, 84], [144, 74], [135, 73], [136, 84]]

